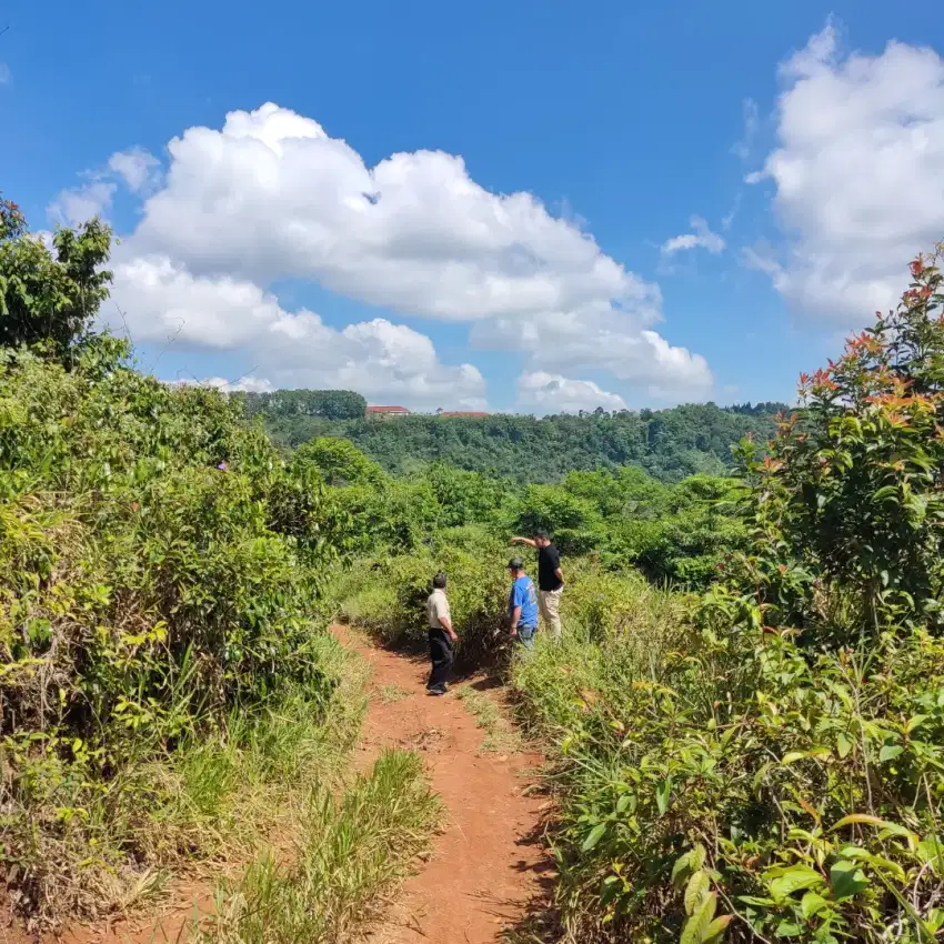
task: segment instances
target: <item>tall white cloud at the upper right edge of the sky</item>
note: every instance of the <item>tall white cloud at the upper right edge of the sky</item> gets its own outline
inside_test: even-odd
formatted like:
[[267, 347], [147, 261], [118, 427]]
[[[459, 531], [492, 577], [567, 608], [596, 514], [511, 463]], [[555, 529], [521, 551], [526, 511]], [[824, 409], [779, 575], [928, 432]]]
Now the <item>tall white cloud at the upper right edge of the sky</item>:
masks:
[[944, 237], [944, 59], [890, 42], [842, 54], [832, 23], [781, 67], [770, 180], [786, 245], [754, 252], [796, 308], [840, 322], [892, 307]]

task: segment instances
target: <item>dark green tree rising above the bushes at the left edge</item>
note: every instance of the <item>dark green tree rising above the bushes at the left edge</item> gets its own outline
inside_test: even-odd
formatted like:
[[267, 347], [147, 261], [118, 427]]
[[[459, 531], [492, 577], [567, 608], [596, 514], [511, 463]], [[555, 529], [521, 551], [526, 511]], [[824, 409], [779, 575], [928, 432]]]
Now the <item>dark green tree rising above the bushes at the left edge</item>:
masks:
[[0, 345], [46, 342], [67, 358], [108, 298], [111, 230], [100, 220], [60, 229], [56, 253], [31, 235], [16, 203], [0, 200]]

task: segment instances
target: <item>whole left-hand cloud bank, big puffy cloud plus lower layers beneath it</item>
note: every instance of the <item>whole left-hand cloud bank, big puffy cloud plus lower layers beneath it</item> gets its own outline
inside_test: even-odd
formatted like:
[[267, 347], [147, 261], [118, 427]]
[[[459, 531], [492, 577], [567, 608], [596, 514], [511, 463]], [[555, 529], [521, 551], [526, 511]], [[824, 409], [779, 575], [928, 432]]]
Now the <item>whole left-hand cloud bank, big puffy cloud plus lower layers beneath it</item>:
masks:
[[[368, 395], [412, 395], [414, 405], [483, 402], [479, 371], [443, 364], [416, 331], [386, 319], [337, 331], [283, 311], [271, 287], [291, 279], [469, 324], [475, 344], [524, 353], [530, 372], [610, 370], [666, 398], [711, 385], [704, 359], [654, 330], [657, 285], [606, 255], [571, 214], [484, 189], [460, 157], [401, 152], [370, 167], [272, 103], [187, 129], [167, 151], [165, 170], [138, 148], [114, 154], [56, 204], [76, 222], [107, 212], [118, 184], [142, 198], [114, 267], [137, 340], [244, 352], [273, 383], [304, 375], [324, 386], [343, 373]], [[702, 239], [711, 248], [720, 237], [705, 227]]]

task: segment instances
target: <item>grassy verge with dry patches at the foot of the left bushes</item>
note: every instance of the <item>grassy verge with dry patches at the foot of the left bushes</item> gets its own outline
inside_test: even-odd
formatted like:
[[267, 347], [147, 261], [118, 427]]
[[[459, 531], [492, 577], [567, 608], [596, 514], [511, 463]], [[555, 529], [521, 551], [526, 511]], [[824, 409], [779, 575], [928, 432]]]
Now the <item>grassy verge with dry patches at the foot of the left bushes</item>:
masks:
[[[159, 897], [172, 875], [245, 861], [282, 827], [300, 784], [332, 781], [360, 729], [366, 666], [330, 635], [313, 646], [331, 680], [327, 701], [287, 686], [257, 713], [233, 711], [104, 783], [49, 769], [51, 752], [44, 766], [37, 755], [33, 793], [20, 797], [29, 813], [0, 822], [4, 847], [19, 850], [7, 870], [14, 903], [31, 923], [122, 914]], [[56, 789], [42, 802], [44, 783]]]

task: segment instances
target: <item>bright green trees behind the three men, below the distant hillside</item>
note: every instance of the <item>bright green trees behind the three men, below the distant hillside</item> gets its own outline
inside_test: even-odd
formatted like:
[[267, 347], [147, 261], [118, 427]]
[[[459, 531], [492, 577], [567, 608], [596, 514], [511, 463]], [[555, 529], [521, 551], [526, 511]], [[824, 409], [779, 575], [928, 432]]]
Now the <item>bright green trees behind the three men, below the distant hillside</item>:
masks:
[[393, 479], [347, 440], [328, 438], [292, 455], [292, 465], [317, 470], [329, 486], [334, 530], [352, 556], [425, 554], [443, 545], [443, 532], [466, 526], [493, 535], [501, 555], [510, 536], [544, 530], [569, 556], [592, 554], [614, 573], [635, 566], [655, 584], [696, 589], [747, 545], [731, 479], [695, 475], [666, 485], [630, 466], [520, 486], [442, 463]]

